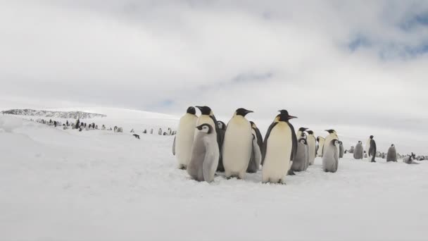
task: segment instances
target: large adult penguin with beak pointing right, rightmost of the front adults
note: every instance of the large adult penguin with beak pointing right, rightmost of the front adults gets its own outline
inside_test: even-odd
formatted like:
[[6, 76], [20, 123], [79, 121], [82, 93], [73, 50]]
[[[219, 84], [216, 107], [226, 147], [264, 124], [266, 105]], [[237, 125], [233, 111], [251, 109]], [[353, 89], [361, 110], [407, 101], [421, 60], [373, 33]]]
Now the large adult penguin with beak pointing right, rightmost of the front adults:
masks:
[[289, 120], [288, 111], [279, 111], [275, 121], [269, 126], [262, 148], [262, 182], [285, 183], [292, 160], [296, 156], [297, 137], [293, 125]]

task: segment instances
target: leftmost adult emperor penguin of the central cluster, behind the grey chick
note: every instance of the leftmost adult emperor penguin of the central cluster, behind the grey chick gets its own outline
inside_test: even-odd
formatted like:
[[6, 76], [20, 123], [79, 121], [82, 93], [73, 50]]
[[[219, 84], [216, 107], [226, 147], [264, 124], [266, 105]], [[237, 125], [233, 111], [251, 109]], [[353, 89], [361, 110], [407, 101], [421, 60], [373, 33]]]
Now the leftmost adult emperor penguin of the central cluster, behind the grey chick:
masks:
[[174, 137], [173, 153], [177, 159], [177, 168], [186, 169], [190, 161], [191, 147], [193, 146], [196, 121], [196, 110], [193, 106], [187, 108], [186, 113], [178, 123], [177, 135]]

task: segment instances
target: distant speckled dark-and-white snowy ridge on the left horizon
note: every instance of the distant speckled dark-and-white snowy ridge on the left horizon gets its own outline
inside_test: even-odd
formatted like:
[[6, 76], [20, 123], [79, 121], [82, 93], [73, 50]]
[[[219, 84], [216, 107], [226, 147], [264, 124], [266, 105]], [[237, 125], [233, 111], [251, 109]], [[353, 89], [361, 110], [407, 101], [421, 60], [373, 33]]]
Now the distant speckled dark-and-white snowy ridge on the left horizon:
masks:
[[87, 113], [82, 111], [40, 111], [32, 109], [11, 109], [1, 111], [1, 113], [15, 116], [40, 116], [48, 118], [72, 118], [72, 119], [90, 119], [96, 117], [106, 117], [99, 113]]

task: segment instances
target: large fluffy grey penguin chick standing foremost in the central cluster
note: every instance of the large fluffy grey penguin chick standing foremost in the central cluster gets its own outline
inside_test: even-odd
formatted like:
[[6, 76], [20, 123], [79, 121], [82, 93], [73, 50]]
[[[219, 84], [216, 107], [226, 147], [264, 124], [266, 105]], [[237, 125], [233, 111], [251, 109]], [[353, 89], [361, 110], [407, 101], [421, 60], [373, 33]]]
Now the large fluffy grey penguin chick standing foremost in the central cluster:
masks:
[[187, 165], [187, 173], [190, 177], [199, 182], [210, 183], [214, 180], [215, 171], [218, 166], [217, 135], [214, 133], [212, 125], [203, 123], [196, 127], [193, 147], [191, 148], [191, 158]]

